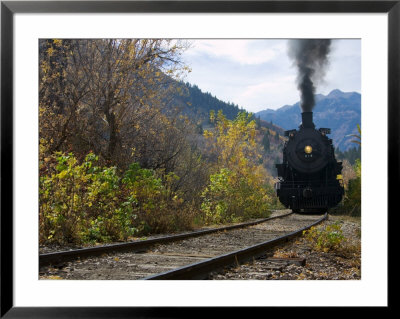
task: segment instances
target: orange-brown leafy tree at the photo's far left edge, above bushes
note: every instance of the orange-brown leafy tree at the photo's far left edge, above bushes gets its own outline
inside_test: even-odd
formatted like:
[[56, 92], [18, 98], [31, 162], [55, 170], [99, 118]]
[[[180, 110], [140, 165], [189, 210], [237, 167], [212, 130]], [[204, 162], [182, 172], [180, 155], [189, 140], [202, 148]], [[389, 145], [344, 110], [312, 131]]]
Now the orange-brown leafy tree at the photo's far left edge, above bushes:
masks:
[[39, 42], [39, 137], [40, 155], [68, 148], [76, 132], [78, 110], [89, 93], [80, 61], [74, 59], [70, 40]]

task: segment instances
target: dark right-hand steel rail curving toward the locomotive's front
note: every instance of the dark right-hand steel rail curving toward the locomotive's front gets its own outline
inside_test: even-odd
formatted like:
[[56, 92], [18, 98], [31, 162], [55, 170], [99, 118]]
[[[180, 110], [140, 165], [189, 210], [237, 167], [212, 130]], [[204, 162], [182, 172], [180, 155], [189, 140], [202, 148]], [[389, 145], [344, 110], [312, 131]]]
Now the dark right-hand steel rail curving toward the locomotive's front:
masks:
[[187, 266], [183, 266], [177, 269], [173, 269], [170, 271], [166, 271], [163, 273], [151, 275], [143, 278], [142, 280], [185, 280], [185, 279], [205, 279], [208, 277], [209, 273], [212, 271], [218, 271], [222, 268], [229, 266], [240, 264], [245, 261], [260, 257], [265, 254], [266, 249], [270, 249], [282, 242], [287, 242], [293, 237], [296, 237], [304, 230], [307, 230], [322, 221], [326, 220], [328, 217], [328, 213], [317, 220], [316, 222], [305, 226], [299, 230], [296, 230], [287, 235], [280, 236], [278, 238], [268, 240], [266, 242], [250, 246], [241, 250], [237, 250], [231, 253], [227, 253], [221, 256], [213, 257], [198, 263], [190, 264]]

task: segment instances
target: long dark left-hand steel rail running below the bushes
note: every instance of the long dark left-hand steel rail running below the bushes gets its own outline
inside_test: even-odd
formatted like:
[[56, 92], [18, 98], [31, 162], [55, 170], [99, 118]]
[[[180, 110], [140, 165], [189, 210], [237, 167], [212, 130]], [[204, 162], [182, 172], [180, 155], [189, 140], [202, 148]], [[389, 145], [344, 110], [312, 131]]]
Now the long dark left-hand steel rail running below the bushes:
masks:
[[186, 238], [190, 238], [190, 237], [211, 234], [211, 233], [215, 233], [215, 232], [219, 232], [219, 231], [232, 230], [232, 229], [237, 229], [237, 228], [253, 226], [253, 225], [264, 223], [264, 222], [267, 222], [267, 221], [270, 221], [273, 219], [286, 217], [291, 214], [293, 214], [293, 212], [279, 215], [279, 216], [264, 218], [264, 219], [261, 219], [258, 221], [253, 221], [253, 222], [248, 222], [248, 223], [242, 223], [242, 224], [218, 227], [218, 228], [212, 228], [212, 229], [205, 229], [205, 230], [200, 230], [200, 231], [164, 236], [164, 237], [147, 239], [147, 240], [138, 240], [138, 241], [133, 241], [133, 242], [121, 243], [121, 244], [112, 244], [112, 245], [105, 245], [105, 246], [96, 246], [96, 247], [40, 254], [39, 255], [39, 267], [47, 266], [47, 265], [51, 265], [51, 264], [57, 264], [60, 262], [66, 262], [66, 261], [70, 261], [70, 260], [74, 260], [74, 259], [82, 258], [82, 257], [99, 256], [99, 255], [102, 255], [105, 253], [110, 253], [110, 252], [141, 251], [141, 250], [147, 249], [150, 246], [155, 245], [155, 244], [164, 244], [164, 243], [182, 240], [182, 239], [186, 239]]

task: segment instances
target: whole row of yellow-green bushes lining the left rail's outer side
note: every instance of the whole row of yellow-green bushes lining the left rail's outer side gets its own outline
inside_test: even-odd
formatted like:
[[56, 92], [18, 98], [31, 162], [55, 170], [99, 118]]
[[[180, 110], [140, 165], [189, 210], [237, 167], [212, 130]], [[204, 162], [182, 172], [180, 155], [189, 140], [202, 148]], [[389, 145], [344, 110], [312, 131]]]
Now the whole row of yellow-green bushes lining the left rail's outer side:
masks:
[[97, 161], [93, 153], [81, 164], [72, 153], [56, 153], [40, 162], [41, 243], [108, 242], [190, 228], [195, 212], [172, 191], [175, 174], [160, 178], [133, 163], [120, 177], [116, 167]]

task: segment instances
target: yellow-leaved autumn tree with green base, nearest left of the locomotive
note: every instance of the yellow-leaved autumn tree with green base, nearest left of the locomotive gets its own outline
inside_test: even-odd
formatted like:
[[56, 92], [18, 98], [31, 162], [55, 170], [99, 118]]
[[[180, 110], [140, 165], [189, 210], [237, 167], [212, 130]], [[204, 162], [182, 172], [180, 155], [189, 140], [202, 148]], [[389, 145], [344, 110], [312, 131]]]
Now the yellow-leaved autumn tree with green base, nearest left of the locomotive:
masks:
[[230, 121], [222, 112], [211, 113], [211, 121], [215, 128], [204, 131], [209, 152], [214, 154], [214, 173], [202, 194], [206, 221], [268, 216], [271, 177], [259, 164], [255, 121], [246, 113]]

